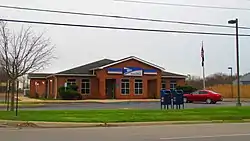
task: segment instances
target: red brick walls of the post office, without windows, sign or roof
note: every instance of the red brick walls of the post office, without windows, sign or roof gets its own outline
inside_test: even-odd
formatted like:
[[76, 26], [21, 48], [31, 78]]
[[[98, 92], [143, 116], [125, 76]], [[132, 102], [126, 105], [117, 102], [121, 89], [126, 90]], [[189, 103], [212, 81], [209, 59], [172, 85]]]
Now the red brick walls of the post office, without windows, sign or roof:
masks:
[[[46, 81], [48, 82], [49, 87], [49, 97], [50, 98], [58, 98], [58, 88], [61, 86], [64, 86], [64, 83], [67, 81], [67, 79], [76, 79], [76, 83], [79, 86], [79, 93], [81, 93], [81, 80], [82, 79], [90, 79], [90, 94], [89, 95], [83, 95], [84, 99], [105, 99], [106, 93], [105, 93], [105, 81], [106, 79], [116, 79], [116, 83], [118, 84], [118, 87], [115, 89], [116, 98], [117, 99], [144, 99], [144, 98], [154, 98], [155, 96], [157, 98], [160, 97], [160, 89], [161, 89], [161, 80], [162, 80], [162, 74], [161, 70], [157, 68], [153, 68], [149, 65], [143, 64], [141, 62], [138, 62], [137, 60], [129, 60], [126, 62], [122, 62], [120, 64], [116, 64], [114, 66], [110, 66], [109, 68], [124, 68], [124, 67], [139, 67], [142, 69], [156, 69], [157, 75], [143, 75], [142, 77], [125, 77], [123, 75], [117, 75], [117, 74], [108, 74], [107, 68], [103, 70], [96, 70], [96, 77], [69, 77], [69, 76], [57, 76], [57, 77], [50, 77]], [[130, 80], [130, 94], [129, 95], [122, 95], [121, 94], [121, 79], [126, 78]], [[135, 95], [134, 93], [134, 80], [142, 79], [143, 81], [143, 94], [142, 95]], [[170, 81], [176, 80], [177, 85], [183, 86], [185, 85], [185, 79], [170, 79], [170, 78], [163, 78], [166, 80], [166, 88], [169, 89], [170, 87]], [[50, 81], [52, 80], [52, 81]], [[151, 83], [148, 83], [149, 80], [155, 80], [154, 82], [151, 81]], [[45, 82], [45, 79], [31, 79], [30, 83], [30, 93], [34, 97], [35, 96], [35, 81], [39, 81], [42, 83], [42, 81]], [[39, 95], [43, 95], [47, 92], [45, 85], [38, 87], [38, 93]], [[155, 93], [155, 94], [153, 94]]]

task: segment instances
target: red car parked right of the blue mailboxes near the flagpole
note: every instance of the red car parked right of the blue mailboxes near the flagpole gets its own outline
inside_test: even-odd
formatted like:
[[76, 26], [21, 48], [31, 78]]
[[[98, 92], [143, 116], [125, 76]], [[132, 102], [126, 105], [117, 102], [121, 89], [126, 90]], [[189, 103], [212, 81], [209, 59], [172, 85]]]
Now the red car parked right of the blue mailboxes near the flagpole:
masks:
[[190, 103], [193, 101], [206, 102], [207, 104], [215, 104], [222, 101], [222, 96], [211, 90], [198, 90], [190, 94], [184, 94], [184, 102]]

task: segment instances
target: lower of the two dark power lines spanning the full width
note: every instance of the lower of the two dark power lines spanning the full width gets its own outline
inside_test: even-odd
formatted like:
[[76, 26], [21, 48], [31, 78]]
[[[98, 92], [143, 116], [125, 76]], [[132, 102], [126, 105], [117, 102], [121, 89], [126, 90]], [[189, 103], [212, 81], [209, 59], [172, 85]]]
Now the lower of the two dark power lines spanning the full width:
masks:
[[[0, 21], [15, 22], [15, 23], [31, 23], [31, 24], [43, 24], [43, 25], [68, 26], [68, 27], [85, 27], [85, 28], [99, 28], [99, 29], [129, 30], [129, 31], [147, 31], [147, 32], [182, 33], [182, 34], [196, 34], [196, 35], [235, 36], [235, 34], [218, 33], [218, 32], [195, 32], [195, 31], [159, 30], [159, 29], [145, 29], [145, 28], [127, 28], [127, 27], [114, 27], [114, 26], [95, 26], [95, 25], [67, 24], [67, 23], [56, 23], [56, 22], [39, 22], [39, 21], [13, 20], [13, 19], [0, 19]], [[248, 35], [248, 34], [240, 34], [239, 36], [250, 37], [250, 35]]]

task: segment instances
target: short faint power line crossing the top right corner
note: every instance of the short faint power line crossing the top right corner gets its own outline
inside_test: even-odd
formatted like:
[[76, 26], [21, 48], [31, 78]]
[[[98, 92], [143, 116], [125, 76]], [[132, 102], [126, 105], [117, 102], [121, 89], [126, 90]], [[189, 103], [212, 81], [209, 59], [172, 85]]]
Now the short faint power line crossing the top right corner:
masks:
[[141, 4], [154, 4], [154, 5], [166, 5], [166, 6], [179, 6], [179, 7], [192, 7], [192, 8], [210, 8], [210, 9], [226, 9], [226, 10], [244, 10], [249, 11], [250, 8], [237, 8], [237, 7], [222, 7], [222, 6], [205, 6], [205, 5], [190, 5], [190, 4], [173, 4], [163, 2], [146, 2], [146, 1], [134, 1], [134, 0], [114, 0], [119, 2], [129, 3], [141, 3]]

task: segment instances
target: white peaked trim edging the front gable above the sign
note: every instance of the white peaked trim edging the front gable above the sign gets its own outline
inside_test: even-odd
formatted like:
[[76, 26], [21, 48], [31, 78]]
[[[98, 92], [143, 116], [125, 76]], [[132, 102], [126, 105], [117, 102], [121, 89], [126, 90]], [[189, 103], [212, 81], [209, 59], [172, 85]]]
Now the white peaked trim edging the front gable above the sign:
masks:
[[104, 69], [104, 68], [106, 68], [106, 67], [113, 66], [113, 65], [116, 65], [116, 64], [119, 64], [119, 63], [122, 63], [122, 62], [125, 62], [125, 61], [128, 61], [128, 60], [131, 60], [131, 59], [137, 60], [137, 61], [142, 62], [142, 63], [144, 63], [144, 64], [147, 64], [147, 65], [149, 65], [149, 66], [152, 66], [152, 67], [155, 67], [155, 68], [157, 68], [157, 69], [160, 69], [160, 70], [162, 70], [162, 71], [165, 70], [163, 67], [157, 66], [157, 65], [155, 65], [155, 64], [153, 64], [153, 63], [150, 63], [150, 62], [148, 62], [148, 61], [142, 60], [142, 59], [140, 59], [140, 58], [138, 58], [138, 57], [135, 57], [135, 56], [130, 56], [130, 57], [127, 57], [127, 58], [124, 58], [124, 59], [115, 61], [114, 63], [110, 63], [110, 64], [108, 64], [108, 65], [104, 65], [104, 66], [101, 66], [101, 67], [98, 67], [98, 68], [95, 68], [95, 69]]

